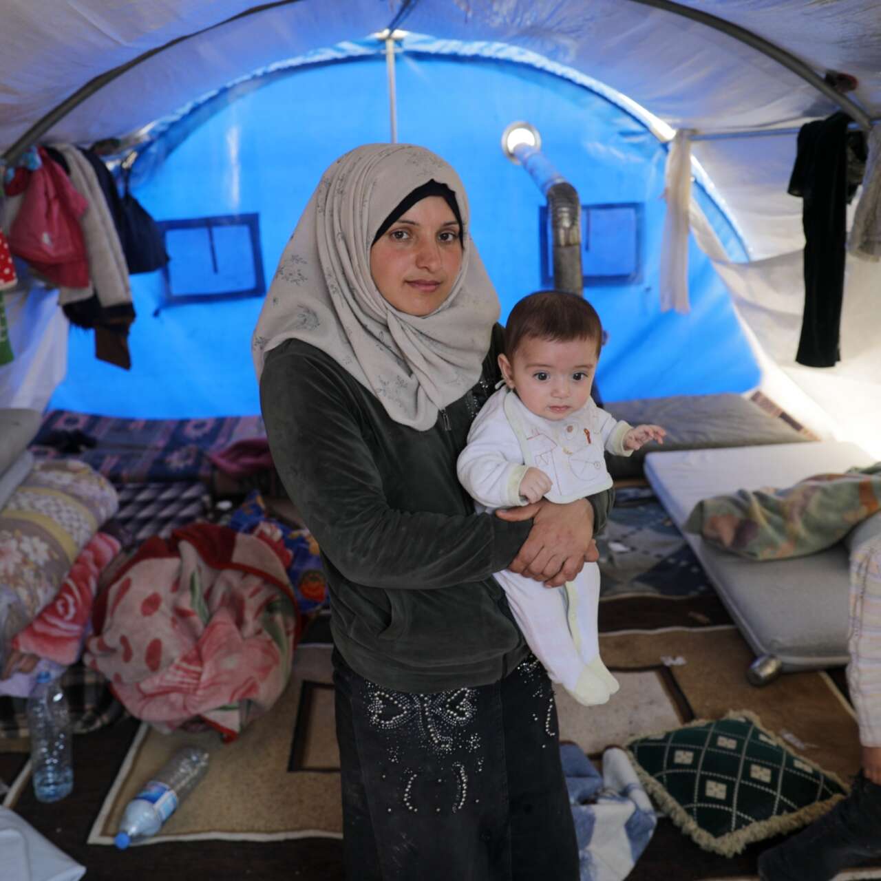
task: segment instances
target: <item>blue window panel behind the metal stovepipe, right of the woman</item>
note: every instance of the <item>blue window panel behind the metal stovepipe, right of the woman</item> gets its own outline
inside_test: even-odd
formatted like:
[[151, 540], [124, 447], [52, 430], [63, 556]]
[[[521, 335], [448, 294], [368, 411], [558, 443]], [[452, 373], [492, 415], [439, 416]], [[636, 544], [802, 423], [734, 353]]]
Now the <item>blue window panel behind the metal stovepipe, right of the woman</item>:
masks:
[[[636, 285], [642, 278], [643, 207], [638, 202], [581, 205], [585, 287]], [[546, 205], [538, 209], [542, 285], [553, 286], [553, 240]]]

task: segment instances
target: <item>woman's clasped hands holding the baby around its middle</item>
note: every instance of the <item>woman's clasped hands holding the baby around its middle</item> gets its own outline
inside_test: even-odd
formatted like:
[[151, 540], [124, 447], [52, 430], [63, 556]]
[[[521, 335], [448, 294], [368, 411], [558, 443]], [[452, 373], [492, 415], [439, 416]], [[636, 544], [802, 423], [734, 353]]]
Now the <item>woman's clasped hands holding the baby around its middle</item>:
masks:
[[545, 587], [559, 588], [581, 572], [585, 561], [599, 553], [594, 544], [594, 509], [586, 499], [567, 505], [548, 500], [515, 508], [500, 508], [496, 516], [507, 521], [534, 518], [529, 537], [508, 568]]

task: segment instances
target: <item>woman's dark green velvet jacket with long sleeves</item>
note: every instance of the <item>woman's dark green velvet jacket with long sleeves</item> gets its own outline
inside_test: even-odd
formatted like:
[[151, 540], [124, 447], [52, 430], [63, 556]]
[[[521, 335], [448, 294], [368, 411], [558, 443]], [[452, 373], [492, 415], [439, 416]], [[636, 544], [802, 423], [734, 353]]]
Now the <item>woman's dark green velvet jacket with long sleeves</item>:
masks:
[[[501, 328], [478, 385], [419, 432], [329, 355], [288, 340], [266, 359], [261, 404], [279, 477], [321, 545], [334, 642], [362, 677], [403, 692], [486, 685], [527, 648], [494, 572], [531, 521], [474, 513], [455, 462], [500, 378]], [[600, 529], [612, 492], [591, 497]], [[549, 597], [550, 599], [550, 597]]]

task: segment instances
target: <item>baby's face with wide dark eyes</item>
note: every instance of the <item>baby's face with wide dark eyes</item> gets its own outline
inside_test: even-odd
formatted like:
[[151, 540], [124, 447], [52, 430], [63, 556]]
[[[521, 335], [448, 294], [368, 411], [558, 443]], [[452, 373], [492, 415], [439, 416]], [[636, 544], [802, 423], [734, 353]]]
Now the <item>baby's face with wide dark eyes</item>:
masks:
[[588, 403], [596, 373], [595, 339], [559, 340], [528, 337], [509, 360], [499, 364], [509, 389], [526, 408], [545, 419], [565, 419]]

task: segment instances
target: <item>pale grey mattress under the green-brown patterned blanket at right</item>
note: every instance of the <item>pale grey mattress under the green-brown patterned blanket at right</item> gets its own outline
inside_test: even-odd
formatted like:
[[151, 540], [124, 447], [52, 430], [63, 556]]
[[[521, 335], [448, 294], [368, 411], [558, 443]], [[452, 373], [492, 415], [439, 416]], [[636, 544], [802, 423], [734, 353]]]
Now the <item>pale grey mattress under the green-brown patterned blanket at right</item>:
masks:
[[[681, 529], [697, 502], [738, 489], [792, 485], [813, 474], [864, 467], [872, 457], [840, 441], [651, 453], [646, 477]], [[756, 561], [685, 534], [757, 655], [776, 655], [784, 670], [848, 663], [848, 551]]]

